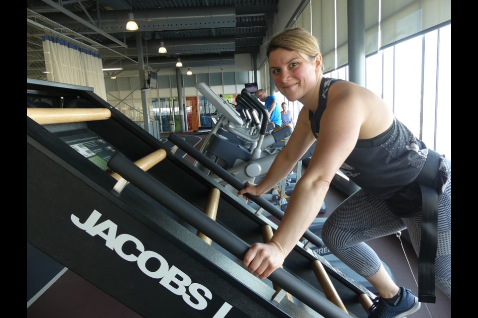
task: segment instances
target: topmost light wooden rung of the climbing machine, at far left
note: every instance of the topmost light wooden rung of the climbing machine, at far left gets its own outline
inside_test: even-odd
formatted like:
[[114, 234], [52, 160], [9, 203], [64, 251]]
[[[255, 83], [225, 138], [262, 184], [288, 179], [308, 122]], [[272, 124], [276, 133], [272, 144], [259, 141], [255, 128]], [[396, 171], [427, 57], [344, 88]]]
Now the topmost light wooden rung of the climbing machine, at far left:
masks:
[[108, 108], [34, 108], [27, 107], [26, 115], [40, 125], [78, 123], [105, 120], [111, 117]]

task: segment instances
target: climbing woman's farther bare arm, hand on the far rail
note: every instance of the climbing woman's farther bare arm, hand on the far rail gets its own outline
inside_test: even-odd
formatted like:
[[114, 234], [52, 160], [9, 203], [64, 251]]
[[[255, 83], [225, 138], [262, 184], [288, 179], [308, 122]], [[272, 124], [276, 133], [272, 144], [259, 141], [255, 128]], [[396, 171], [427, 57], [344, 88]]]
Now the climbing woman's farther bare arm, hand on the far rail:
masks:
[[315, 140], [310, 129], [309, 112], [303, 107], [289, 141], [274, 159], [265, 177], [257, 185], [247, 182], [246, 187], [239, 190], [238, 195], [243, 195], [244, 193], [262, 195], [272, 189], [292, 171], [297, 161], [309, 150]]

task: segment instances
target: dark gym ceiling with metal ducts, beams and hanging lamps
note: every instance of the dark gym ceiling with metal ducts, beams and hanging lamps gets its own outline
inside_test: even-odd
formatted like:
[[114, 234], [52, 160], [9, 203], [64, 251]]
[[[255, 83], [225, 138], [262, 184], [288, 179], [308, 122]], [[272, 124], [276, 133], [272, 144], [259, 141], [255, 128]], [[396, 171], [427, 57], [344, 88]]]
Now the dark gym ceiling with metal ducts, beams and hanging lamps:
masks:
[[[41, 41], [46, 28], [98, 49], [104, 68], [137, 71], [138, 52], [152, 70], [175, 68], [178, 58], [184, 67], [234, 65], [235, 54], [259, 52], [278, 12], [278, 2], [27, 0], [27, 59], [30, 47], [32, 55], [41, 51], [35, 41]], [[131, 12], [137, 31], [126, 30]], [[158, 53], [161, 41], [166, 54]], [[27, 69], [33, 68], [36, 60], [41, 57], [27, 61]]]

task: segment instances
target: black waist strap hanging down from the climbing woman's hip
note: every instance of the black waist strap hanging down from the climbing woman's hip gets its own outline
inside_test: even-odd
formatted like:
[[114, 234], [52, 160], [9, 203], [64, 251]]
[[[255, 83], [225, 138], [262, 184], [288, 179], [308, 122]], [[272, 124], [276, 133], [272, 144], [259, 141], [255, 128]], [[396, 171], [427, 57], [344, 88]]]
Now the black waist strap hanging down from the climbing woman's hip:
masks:
[[422, 192], [422, 237], [418, 255], [418, 301], [435, 303], [435, 257], [438, 244], [438, 192], [435, 181], [439, 155], [429, 150], [427, 161], [415, 179]]

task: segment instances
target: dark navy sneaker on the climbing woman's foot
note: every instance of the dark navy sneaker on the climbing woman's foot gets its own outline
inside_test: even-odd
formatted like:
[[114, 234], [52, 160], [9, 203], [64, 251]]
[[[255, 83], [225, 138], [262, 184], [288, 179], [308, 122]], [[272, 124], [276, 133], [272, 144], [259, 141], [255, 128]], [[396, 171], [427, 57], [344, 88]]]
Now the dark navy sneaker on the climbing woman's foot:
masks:
[[368, 310], [368, 318], [402, 318], [420, 309], [418, 298], [411, 290], [400, 287], [400, 299], [395, 306], [388, 305], [383, 298], [377, 297]]

